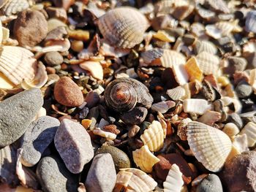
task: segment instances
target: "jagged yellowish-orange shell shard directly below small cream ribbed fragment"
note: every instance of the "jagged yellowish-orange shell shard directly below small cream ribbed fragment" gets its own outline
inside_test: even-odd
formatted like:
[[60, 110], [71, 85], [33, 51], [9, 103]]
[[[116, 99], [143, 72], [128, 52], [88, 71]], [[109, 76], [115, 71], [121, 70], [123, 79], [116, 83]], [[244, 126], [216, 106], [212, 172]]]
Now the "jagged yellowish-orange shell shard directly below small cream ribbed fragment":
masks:
[[160, 161], [153, 153], [148, 149], [148, 145], [143, 145], [138, 150], [132, 151], [133, 161], [140, 167], [143, 172], [150, 173], [154, 164]]

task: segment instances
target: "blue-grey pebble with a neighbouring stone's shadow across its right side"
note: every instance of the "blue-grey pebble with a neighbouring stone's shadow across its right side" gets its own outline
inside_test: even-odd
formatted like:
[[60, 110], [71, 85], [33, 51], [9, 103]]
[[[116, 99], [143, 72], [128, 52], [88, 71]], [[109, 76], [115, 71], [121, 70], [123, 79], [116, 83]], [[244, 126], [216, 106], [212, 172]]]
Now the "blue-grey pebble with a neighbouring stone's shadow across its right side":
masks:
[[24, 166], [34, 166], [40, 160], [42, 153], [53, 141], [59, 120], [50, 116], [43, 116], [34, 120], [23, 135], [21, 148], [21, 163]]

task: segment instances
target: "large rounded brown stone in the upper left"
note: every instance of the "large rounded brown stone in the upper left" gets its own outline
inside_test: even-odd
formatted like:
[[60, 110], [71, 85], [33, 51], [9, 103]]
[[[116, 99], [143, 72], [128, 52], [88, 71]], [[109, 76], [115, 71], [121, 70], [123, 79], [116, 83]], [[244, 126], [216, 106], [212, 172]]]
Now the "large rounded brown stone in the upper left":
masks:
[[18, 14], [13, 31], [20, 46], [34, 47], [47, 36], [48, 23], [42, 12], [26, 10]]

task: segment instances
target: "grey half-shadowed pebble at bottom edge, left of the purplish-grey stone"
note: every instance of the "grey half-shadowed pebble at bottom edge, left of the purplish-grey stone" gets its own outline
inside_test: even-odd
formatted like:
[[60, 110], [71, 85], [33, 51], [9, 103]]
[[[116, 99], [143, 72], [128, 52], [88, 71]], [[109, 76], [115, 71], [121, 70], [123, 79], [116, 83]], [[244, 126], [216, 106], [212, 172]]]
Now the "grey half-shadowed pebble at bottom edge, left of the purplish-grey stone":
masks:
[[70, 192], [78, 189], [78, 178], [57, 157], [42, 158], [37, 165], [37, 177], [43, 191]]

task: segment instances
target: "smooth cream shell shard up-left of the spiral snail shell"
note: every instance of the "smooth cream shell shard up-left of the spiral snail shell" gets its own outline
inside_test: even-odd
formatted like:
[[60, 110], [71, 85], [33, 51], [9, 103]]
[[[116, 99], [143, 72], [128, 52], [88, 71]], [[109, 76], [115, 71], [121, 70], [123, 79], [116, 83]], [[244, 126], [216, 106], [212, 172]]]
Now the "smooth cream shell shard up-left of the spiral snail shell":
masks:
[[103, 68], [97, 61], [85, 61], [81, 63], [80, 68], [85, 69], [91, 73], [91, 76], [97, 80], [103, 80]]

